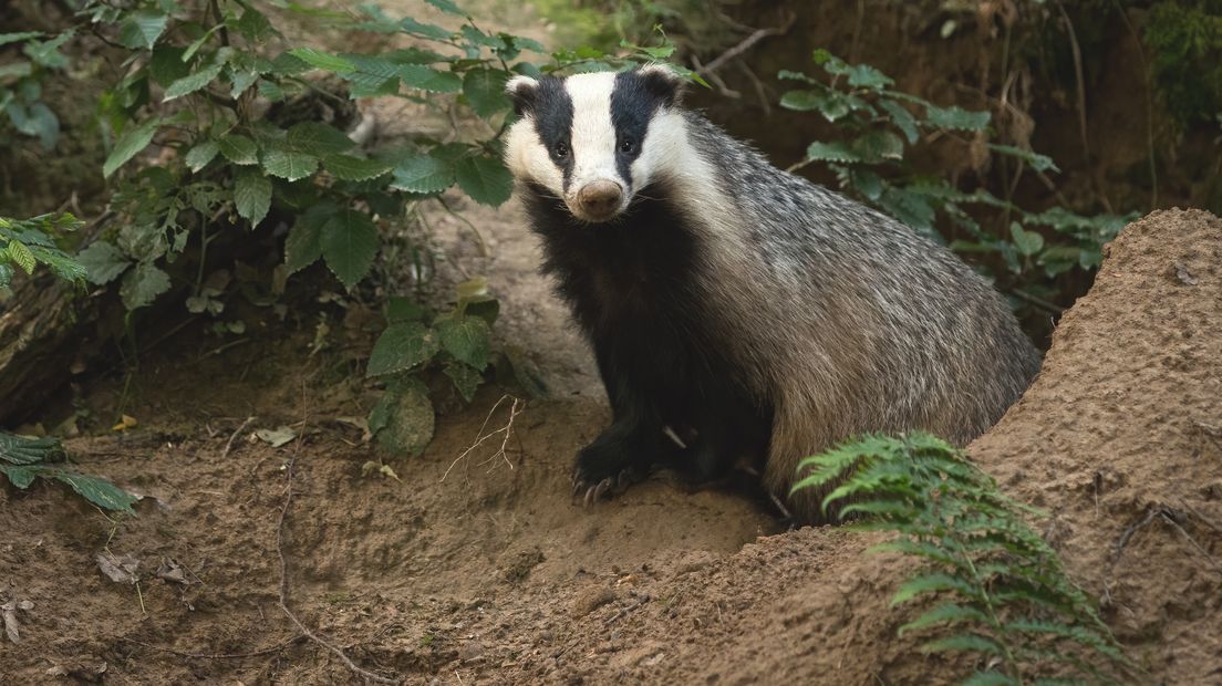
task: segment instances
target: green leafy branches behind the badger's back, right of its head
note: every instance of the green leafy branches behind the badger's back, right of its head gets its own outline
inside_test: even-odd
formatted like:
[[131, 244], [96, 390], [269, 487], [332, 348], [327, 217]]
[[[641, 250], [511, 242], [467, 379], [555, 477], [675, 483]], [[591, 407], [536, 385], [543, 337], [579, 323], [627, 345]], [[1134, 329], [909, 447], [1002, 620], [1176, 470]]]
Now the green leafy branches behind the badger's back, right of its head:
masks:
[[803, 84], [781, 99], [797, 111], [819, 112], [836, 126], [841, 139], [815, 142], [799, 166], [819, 162], [842, 189], [936, 239], [940, 221], [960, 238], [951, 247], [963, 253], [997, 254], [1022, 284], [1040, 284], [1066, 271], [1092, 270], [1102, 245], [1133, 217], [1081, 216], [1057, 208], [1028, 212], [998, 198], [982, 184], [964, 190], [946, 177], [916, 173], [910, 146], [931, 134], [958, 138], [964, 148], [1020, 160], [1036, 173], [1057, 171], [1051, 157], [992, 140], [991, 115], [940, 107], [896, 90], [895, 81], [869, 65], [849, 65], [825, 50], [814, 61], [825, 78], [783, 71], [782, 79]]

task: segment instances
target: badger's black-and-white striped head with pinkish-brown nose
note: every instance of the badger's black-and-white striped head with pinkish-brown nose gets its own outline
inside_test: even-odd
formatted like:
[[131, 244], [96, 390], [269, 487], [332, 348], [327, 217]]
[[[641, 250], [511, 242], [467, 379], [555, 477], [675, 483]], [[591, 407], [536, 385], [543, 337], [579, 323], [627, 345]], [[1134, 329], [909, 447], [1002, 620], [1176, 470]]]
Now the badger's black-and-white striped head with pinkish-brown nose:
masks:
[[682, 133], [682, 79], [662, 65], [506, 84], [521, 120], [506, 164], [587, 222], [613, 220], [665, 176]]

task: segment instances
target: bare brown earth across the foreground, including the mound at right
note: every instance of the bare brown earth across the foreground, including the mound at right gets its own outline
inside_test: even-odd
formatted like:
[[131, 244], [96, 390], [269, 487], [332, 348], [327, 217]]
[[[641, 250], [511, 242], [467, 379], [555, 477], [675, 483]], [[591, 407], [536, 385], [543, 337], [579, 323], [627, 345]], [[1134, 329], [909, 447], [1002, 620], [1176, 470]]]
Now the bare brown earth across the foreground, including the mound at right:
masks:
[[[507, 316], [563, 328], [554, 301], [516, 303]], [[59, 487], [0, 488], [0, 604], [32, 603], [13, 613], [21, 642], [0, 637], [0, 684], [357, 682], [277, 607], [290, 461], [288, 604], [385, 676], [952, 679], [896, 638], [903, 618], [887, 601], [906, 564], [863, 554], [860, 536], [777, 533], [747, 496], [665, 478], [574, 507], [569, 461], [606, 410], [582, 391], [588, 360], [572, 338], [557, 352], [566, 393], [517, 416], [503, 458], [494, 439], [456, 461], [500, 398], [490, 388], [441, 417], [423, 458], [390, 461], [396, 481], [362, 476], [378, 455], [334, 419], [368, 410], [368, 397], [306, 354], [312, 337], [269, 332], [220, 354], [202, 341], [144, 361], [130, 409], [142, 426], [70, 442], [82, 470], [148, 496], [137, 518], [106, 519]], [[237, 431], [248, 415], [258, 419]], [[302, 439], [248, 439], [303, 417]], [[1007, 489], [1055, 515], [1050, 540], [1105, 597], [1151, 681], [1222, 682], [1220, 427], [1222, 221], [1173, 211], [1121, 234], [1035, 386], [971, 447]], [[105, 579], [99, 553], [139, 560], [139, 586]]]

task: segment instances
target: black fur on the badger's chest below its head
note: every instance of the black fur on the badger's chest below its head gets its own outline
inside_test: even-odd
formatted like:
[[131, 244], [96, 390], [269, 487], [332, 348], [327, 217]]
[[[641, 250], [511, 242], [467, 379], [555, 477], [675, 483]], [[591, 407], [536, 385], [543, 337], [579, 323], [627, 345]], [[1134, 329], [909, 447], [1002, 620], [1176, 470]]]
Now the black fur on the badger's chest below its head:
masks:
[[719, 339], [698, 233], [665, 189], [638, 198], [616, 221], [585, 225], [539, 189], [525, 194], [544, 269], [594, 347], [616, 416], [699, 435], [709, 449], [694, 443], [683, 460], [714, 476], [732, 453], [763, 454], [771, 410], [750, 399]]

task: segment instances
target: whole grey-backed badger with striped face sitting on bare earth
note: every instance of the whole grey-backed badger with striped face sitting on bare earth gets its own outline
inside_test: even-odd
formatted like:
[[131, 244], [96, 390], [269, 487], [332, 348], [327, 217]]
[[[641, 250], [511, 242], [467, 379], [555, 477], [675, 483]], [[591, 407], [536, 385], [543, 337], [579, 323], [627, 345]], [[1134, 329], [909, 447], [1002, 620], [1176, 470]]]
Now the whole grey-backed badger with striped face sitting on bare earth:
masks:
[[683, 83], [649, 65], [506, 84], [506, 165], [612, 411], [573, 494], [750, 460], [796, 520], [827, 521], [825, 492], [789, 493], [803, 458], [868, 432], [965, 444], [1039, 355], [951, 251], [772, 166]]

